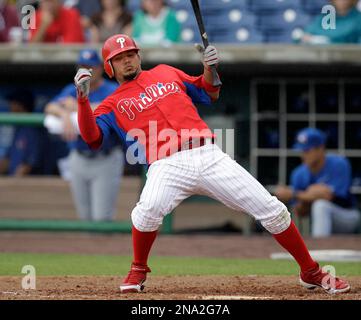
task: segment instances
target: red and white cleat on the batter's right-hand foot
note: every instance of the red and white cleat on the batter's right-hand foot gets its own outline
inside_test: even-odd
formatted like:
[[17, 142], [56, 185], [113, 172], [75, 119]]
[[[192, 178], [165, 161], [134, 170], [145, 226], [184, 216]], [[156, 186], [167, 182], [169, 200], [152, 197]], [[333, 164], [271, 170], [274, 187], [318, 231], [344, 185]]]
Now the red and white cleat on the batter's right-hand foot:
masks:
[[345, 293], [351, 290], [346, 281], [324, 272], [318, 265], [313, 270], [301, 272], [300, 283], [307, 289], [320, 287], [330, 294]]

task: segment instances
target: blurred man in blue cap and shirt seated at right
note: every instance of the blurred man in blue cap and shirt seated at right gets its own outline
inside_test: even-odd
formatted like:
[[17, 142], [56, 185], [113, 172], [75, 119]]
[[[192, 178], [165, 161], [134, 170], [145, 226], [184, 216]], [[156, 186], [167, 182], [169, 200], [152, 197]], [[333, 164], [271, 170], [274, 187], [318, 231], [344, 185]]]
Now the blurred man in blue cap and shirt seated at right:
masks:
[[297, 215], [311, 215], [314, 237], [353, 233], [360, 223], [360, 212], [350, 193], [350, 163], [343, 156], [326, 153], [325, 144], [320, 130], [301, 130], [294, 148], [302, 152], [303, 164], [292, 171], [291, 187], [279, 186], [275, 192]]

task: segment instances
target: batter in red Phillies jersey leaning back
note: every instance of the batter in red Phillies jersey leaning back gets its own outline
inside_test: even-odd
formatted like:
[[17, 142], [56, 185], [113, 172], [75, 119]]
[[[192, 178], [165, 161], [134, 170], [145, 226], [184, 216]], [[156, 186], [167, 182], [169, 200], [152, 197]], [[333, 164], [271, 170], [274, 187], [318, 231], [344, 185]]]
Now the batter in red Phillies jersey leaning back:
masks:
[[[168, 65], [141, 69], [139, 48], [126, 35], [110, 37], [103, 46], [104, 68], [121, 86], [92, 111], [91, 72], [79, 69], [78, 122], [83, 139], [99, 148], [115, 132], [144, 150], [149, 169], [139, 202], [132, 211], [133, 262], [120, 285], [123, 293], [140, 292], [148, 255], [166, 214], [182, 200], [201, 194], [257, 219], [300, 266], [300, 283], [329, 293], [350, 290], [346, 281], [323, 272], [314, 261], [285, 205], [214, 143], [195, 103], [218, 99], [211, 66], [219, 62], [215, 47], [203, 50], [203, 74], [189, 76]], [[186, 134], [184, 133], [186, 132]]]

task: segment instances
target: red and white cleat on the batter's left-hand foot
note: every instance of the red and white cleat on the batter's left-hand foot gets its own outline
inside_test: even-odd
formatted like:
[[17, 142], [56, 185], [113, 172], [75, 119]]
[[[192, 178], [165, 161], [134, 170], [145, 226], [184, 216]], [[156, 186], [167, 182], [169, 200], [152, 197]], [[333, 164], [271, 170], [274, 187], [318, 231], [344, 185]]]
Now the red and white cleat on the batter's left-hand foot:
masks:
[[132, 263], [131, 269], [127, 277], [120, 285], [121, 293], [142, 292], [144, 289], [143, 283], [147, 279], [148, 272], [151, 272], [148, 266]]

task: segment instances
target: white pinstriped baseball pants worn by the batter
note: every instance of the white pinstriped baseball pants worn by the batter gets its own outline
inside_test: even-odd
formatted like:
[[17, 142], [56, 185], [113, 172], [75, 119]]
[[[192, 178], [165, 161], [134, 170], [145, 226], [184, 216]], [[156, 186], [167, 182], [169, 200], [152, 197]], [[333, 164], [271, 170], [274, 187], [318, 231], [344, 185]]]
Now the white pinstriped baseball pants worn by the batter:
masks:
[[143, 232], [157, 230], [165, 215], [194, 194], [253, 216], [273, 234], [291, 223], [282, 202], [216, 144], [206, 144], [176, 152], [149, 167], [140, 200], [132, 211], [133, 225]]

